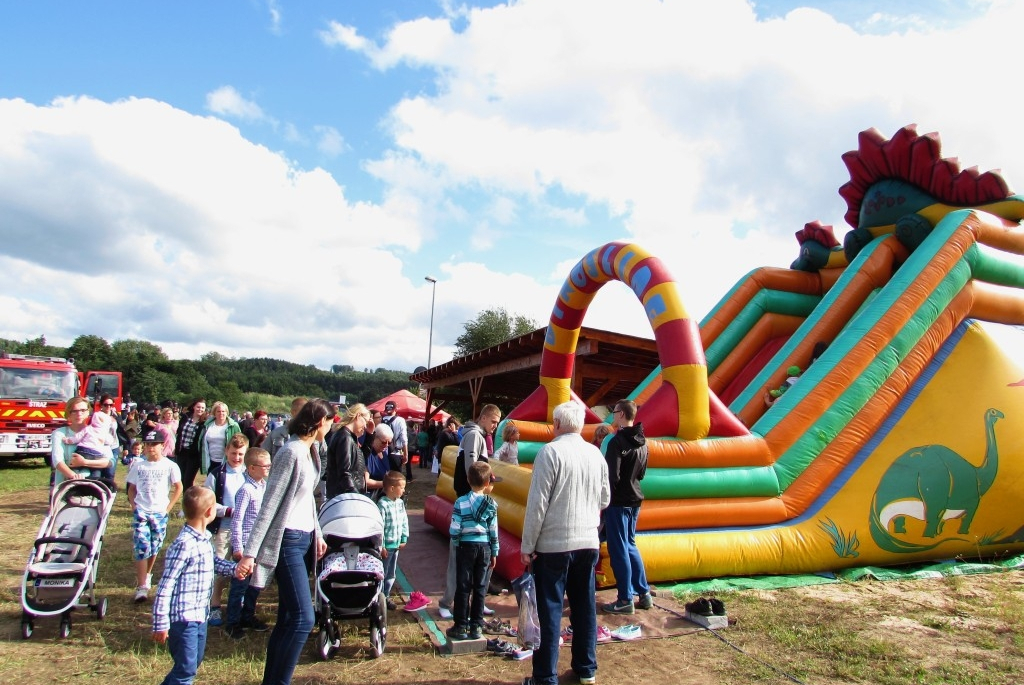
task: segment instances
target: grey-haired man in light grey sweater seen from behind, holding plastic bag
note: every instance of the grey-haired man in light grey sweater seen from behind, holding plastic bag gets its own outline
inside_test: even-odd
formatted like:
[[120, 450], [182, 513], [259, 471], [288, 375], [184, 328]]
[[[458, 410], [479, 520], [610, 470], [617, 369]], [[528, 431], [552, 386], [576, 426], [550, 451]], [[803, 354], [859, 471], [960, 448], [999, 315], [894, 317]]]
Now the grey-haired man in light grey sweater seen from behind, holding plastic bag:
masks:
[[534, 675], [523, 685], [557, 685], [558, 633], [563, 599], [572, 627], [572, 671], [596, 682], [597, 608], [594, 567], [601, 543], [601, 510], [608, 506], [608, 467], [601, 451], [583, 439], [585, 409], [575, 401], [553, 413], [555, 438], [534, 460], [522, 527], [522, 563], [532, 562], [541, 644]]

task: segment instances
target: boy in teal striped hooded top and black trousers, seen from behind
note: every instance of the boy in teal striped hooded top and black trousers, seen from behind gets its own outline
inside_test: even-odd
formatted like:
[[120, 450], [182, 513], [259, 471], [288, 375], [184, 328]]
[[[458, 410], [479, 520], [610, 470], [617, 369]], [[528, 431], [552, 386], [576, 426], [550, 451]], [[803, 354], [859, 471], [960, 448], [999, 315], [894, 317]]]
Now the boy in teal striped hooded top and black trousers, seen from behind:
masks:
[[483, 635], [483, 599], [487, 569], [498, 563], [498, 503], [490, 497], [501, 479], [486, 461], [467, 473], [470, 491], [455, 501], [449, 534], [456, 546], [455, 625], [452, 640], [478, 640]]

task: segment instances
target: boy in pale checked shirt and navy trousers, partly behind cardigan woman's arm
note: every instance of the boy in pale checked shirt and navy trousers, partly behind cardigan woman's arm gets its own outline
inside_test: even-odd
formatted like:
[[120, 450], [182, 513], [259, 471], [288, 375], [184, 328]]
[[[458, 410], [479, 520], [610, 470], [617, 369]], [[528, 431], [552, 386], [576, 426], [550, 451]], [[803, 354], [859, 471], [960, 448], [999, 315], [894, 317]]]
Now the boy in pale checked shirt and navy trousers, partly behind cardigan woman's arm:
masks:
[[[270, 453], [262, 447], [249, 447], [244, 461], [245, 482], [234, 495], [234, 511], [231, 516], [231, 557], [236, 561], [242, 558], [242, 550], [249, 542], [249, 533], [253, 531], [263, 504], [266, 474], [270, 471]], [[243, 581], [232, 577], [227, 592], [227, 623], [224, 631], [236, 640], [245, 637], [247, 628], [257, 633], [267, 630], [267, 625], [256, 617], [259, 588], [252, 587], [249, 581], [249, 576]]]

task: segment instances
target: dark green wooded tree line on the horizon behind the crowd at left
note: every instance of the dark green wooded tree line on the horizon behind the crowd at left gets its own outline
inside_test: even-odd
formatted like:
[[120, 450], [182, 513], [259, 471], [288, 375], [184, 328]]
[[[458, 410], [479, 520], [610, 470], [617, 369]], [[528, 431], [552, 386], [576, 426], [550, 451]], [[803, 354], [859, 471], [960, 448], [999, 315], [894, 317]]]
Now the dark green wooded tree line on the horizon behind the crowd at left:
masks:
[[199, 359], [171, 359], [159, 345], [144, 340], [117, 340], [109, 343], [94, 335], [82, 335], [68, 347], [34, 340], [0, 338], [0, 349], [12, 354], [74, 357], [80, 372], [120, 371], [124, 388], [132, 401], [158, 403], [171, 399], [187, 404], [195, 397], [219, 399], [231, 409], [266, 409], [258, 395], [274, 397], [325, 397], [347, 403], [373, 402], [396, 390], [416, 392], [410, 372], [376, 369], [356, 371], [335, 365], [331, 371], [312, 365], [293, 363], [265, 357], [233, 358], [207, 352]]

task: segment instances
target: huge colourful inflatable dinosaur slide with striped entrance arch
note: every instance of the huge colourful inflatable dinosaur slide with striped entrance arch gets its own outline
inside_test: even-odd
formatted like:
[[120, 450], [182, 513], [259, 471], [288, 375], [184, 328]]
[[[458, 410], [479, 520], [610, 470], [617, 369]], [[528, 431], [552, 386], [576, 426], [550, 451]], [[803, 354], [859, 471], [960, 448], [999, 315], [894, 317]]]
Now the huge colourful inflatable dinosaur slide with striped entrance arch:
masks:
[[[807, 224], [790, 268], [746, 274], [699, 325], [636, 245], [575, 265], [540, 387], [506, 419], [524, 466], [495, 466], [500, 572], [522, 570], [529, 463], [573, 398], [580, 328], [610, 281], [636, 294], [660, 359], [631, 395], [649, 445], [637, 545], [650, 580], [1024, 550], [1024, 197], [913, 126], [864, 131], [843, 160], [843, 245]], [[585, 436], [598, 423], [588, 411]], [[456, 452], [425, 512], [444, 531]], [[600, 571], [613, 582], [603, 555]]]

